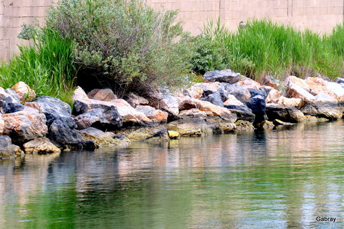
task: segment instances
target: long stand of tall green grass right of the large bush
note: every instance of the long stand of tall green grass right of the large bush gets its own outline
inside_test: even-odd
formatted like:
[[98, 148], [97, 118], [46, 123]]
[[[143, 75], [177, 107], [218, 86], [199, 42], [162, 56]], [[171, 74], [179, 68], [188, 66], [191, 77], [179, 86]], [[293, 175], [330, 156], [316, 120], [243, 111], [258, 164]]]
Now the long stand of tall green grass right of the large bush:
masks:
[[196, 72], [228, 67], [256, 79], [266, 74], [277, 78], [290, 74], [336, 78], [343, 74], [344, 24], [321, 36], [268, 19], [248, 21], [247, 27], [237, 32], [217, 21], [204, 25], [196, 41]]

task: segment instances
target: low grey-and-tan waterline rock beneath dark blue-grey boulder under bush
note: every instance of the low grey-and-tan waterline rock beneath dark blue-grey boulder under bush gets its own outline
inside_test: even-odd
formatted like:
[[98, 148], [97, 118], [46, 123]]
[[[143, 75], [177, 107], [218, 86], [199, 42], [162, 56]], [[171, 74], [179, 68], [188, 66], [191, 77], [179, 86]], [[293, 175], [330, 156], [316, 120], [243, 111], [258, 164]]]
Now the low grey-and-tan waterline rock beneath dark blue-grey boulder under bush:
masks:
[[93, 127], [83, 129], [78, 131], [78, 133], [80, 133], [80, 135], [82, 135], [86, 140], [94, 142], [97, 148], [100, 146], [116, 146], [119, 144], [127, 144], [129, 142], [125, 135], [115, 135], [112, 132], [100, 131], [99, 129], [95, 129]]

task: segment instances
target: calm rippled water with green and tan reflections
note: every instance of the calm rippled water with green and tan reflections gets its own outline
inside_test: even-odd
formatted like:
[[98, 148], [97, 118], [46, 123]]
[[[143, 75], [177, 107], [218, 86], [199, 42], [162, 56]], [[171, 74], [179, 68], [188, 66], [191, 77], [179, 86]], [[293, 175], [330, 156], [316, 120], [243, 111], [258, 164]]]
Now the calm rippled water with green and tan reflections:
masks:
[[344, 228], [343, 136], [339, 121], [0, 160], [0, 228]]

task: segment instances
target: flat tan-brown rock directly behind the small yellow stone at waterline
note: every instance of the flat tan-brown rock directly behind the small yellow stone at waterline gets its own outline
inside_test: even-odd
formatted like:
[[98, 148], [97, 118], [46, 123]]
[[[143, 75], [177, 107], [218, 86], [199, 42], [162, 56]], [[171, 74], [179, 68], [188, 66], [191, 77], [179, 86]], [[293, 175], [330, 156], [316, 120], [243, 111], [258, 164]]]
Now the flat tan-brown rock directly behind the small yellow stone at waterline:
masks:
[[202, 136], [213, 133], [211, 124], [203, 118], [185, 118], [166, 124], [169, 131], [177, 131], [182, 136]]

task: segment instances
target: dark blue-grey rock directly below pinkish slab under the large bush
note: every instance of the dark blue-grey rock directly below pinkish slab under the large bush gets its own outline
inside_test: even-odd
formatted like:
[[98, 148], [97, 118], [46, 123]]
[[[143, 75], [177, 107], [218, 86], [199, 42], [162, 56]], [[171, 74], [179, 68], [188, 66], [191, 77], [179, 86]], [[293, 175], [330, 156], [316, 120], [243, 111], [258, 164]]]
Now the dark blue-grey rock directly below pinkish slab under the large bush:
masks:
[[102, 130], [115, 130], [122, 127], [122, 116], [118, 113], [116, 107], [105, 107], [104, 109], [93, 109], [82, 113], [74, 118], [78, 129], [87, 129], [95, 127]]

